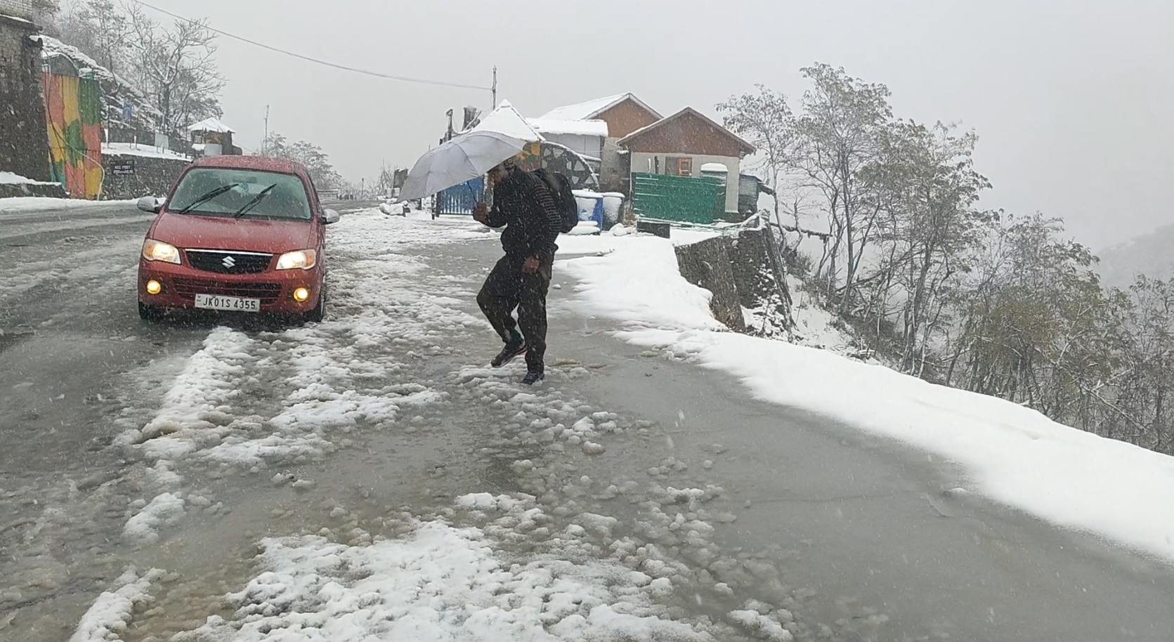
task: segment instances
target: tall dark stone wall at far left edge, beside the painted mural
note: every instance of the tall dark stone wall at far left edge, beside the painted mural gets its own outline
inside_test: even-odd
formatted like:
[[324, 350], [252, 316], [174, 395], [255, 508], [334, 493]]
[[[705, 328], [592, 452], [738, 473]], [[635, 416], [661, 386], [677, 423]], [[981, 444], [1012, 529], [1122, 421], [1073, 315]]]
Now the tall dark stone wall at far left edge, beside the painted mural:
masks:
[[32, 22], [0, 15], [0, 171], [48, 181], [41, 49], [29, 38], [35, 34]]

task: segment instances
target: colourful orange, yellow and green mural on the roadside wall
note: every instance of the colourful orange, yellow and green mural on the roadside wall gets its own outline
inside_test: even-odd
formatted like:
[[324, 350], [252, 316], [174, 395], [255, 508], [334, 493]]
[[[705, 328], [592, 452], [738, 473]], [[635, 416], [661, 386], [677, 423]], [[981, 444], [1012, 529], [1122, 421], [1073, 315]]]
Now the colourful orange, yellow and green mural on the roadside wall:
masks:
[[45, 73], [53, 181], [74, 198], [102, 192], [102, 89], [94, 79]]

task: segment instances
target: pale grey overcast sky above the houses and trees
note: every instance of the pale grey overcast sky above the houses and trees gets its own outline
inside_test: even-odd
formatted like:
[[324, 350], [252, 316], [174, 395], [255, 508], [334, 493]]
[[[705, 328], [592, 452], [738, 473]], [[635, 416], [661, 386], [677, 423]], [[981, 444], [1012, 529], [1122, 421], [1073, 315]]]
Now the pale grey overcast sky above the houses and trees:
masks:
[[[1174, 1], [1119, 0], [153, 0], [276, 47], [389, 74], [484, 85], [527, 116], [633, 92], [663, 114], [764, 83], [797, 99], [799, 67], [892, 90], [898, 116], [979, 134], [989, 207], [1061, 216], [1102, 248], [1174, 223]], [[488, 92], [319, 67], [222, 39], [224, 120], [322, 146], [351, 180], [410, 167], [445, 110]]]

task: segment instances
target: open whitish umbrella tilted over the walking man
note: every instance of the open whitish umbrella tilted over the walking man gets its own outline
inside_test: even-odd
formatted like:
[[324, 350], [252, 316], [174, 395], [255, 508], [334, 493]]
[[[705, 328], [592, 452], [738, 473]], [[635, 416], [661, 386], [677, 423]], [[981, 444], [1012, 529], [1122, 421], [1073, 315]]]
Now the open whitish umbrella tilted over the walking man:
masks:
[[541, 141], [526, 119], [507, 101], [472, 130], [420, 156], [407, 173], [400, 201], [431, 196], [443, 189], [484, 176], [493, 165]]

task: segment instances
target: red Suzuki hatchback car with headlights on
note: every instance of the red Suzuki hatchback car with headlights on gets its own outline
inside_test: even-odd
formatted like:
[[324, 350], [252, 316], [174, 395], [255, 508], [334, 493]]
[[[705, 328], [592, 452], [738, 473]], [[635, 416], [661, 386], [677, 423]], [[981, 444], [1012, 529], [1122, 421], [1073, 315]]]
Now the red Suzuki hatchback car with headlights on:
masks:
[[188, 167], [157, 214], [139, 261], [139, 315], [167, 309], [274, 313], [321, 320], [323, 209], [305, 168], [261, 156], [211, 156]]

